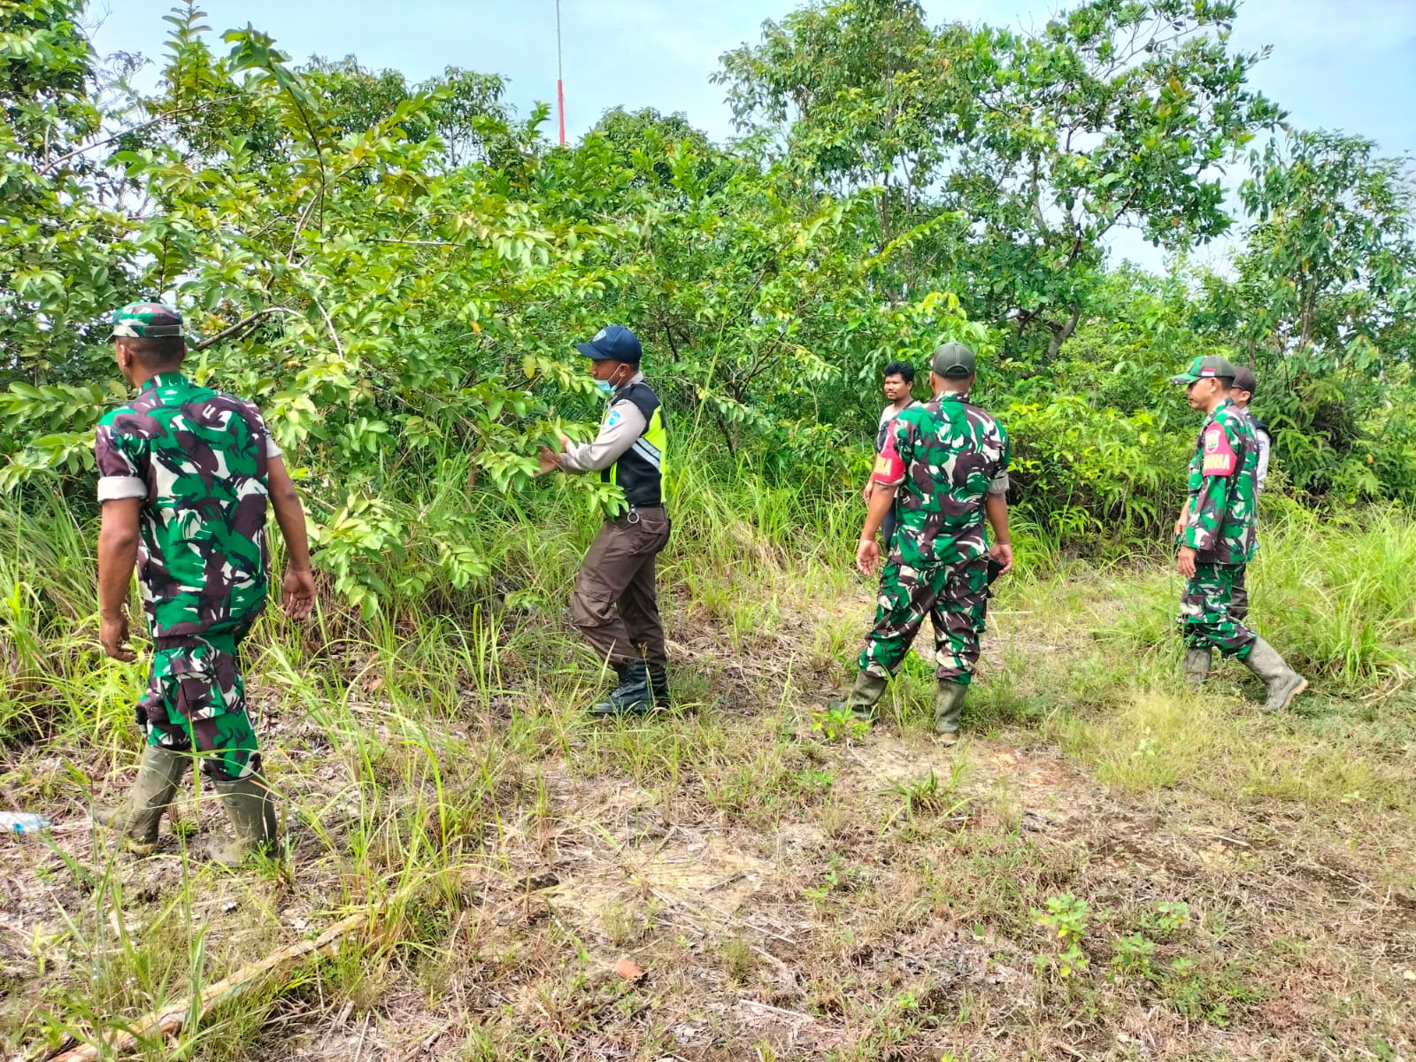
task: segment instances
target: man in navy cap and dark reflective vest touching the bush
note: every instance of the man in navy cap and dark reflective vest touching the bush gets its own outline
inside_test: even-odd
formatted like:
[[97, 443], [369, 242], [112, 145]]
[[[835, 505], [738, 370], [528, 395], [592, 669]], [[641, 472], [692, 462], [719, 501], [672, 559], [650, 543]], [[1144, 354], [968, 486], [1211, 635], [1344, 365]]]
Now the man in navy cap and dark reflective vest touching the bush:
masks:
[[571, 598], [571, 622], [619, 684], [590, 705], [592, 715], [643, 715], [667, 708], [668, 656], [654, 585], [656, 558], [668, 542], [664, 511], [664, 409], [639, 371], [641, 350], [633, 331], [612, 324], [589, 343], [590, 375], [607, 396], [605, 421], [589, 443], [561, 439], [556, 453], [542, 446], [541, 469], [598, 472], [624, 491], [627, 511], [609, 517], [595, 537]]

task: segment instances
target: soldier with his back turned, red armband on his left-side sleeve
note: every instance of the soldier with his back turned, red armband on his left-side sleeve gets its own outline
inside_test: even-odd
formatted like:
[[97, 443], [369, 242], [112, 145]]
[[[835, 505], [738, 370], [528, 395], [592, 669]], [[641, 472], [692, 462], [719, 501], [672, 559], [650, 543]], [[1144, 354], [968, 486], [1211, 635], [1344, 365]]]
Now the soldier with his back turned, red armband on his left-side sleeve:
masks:
[[[929, 374], [935, 396], [895, 418], [877, 460], [855, 554], [857, 566], [869, 573], [879, 559], [875, 534], [895, 504], [899, 525], [881, 575], [875, 624], [845, 705], [874, 722], [877, 701], [929, 616], [939, 664], [935, 732], [946, 745], [959, 739], [964, 694], [978, 661], [990, 558], [1000, 575], [1012, 568], [1008, 433], [969, 402], [974, 365], [973, 350], [961, 343], [935, 351]], [[991, 549], [986, 518], [995, 538]]]

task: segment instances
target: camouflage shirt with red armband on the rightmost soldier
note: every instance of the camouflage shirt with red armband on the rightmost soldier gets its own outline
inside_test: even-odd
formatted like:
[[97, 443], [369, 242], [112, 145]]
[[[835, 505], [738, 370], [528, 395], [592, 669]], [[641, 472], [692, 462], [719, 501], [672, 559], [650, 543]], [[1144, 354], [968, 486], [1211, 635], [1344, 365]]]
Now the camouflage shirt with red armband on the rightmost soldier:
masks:
[[1259, 440], [1228, 398], [1205, 421], [1189, 459], [1184, 544], [1201, 564], [1247, 564], [1257, 515]]

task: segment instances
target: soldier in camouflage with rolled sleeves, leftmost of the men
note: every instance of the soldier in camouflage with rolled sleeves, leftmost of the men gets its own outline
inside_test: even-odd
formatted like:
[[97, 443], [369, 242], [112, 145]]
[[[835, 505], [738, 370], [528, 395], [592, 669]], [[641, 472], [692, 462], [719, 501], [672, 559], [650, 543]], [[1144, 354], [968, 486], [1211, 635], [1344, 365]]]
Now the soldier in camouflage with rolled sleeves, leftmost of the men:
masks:
[[195, 758], [235, 828], [210, 854], [234, 864], [269, 848], [276, 833], [236, 656], [269, 586], [266, 503], [285, 537], [285, 607], [296, 619], [314, 607], [304, 513], [256, 408], [183, 375], [187, 348], [174, 309], [132, 303], [115, 312], [113, 344], [139, 394], [103, 416], [95, 439], [101, 640], [108, 656], [133, 660], [126, 600], [136, 564], [153, 663], [136, 708], [147, 736], [137, 779], [123, 804], [95, 818], [133, 851], [152, 852]]

